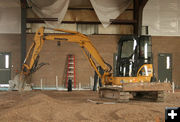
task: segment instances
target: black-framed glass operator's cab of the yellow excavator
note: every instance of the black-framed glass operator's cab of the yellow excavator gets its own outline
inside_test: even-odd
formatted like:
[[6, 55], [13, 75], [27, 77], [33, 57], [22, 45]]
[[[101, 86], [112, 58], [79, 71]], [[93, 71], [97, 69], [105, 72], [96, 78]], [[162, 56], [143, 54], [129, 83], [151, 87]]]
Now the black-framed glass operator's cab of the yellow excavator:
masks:
[[151, 36], [122, 36], [118, 42], [116, 77], [147, 75], [143, 67], [146, 64], [153, 64]]

